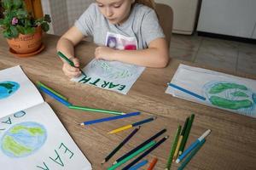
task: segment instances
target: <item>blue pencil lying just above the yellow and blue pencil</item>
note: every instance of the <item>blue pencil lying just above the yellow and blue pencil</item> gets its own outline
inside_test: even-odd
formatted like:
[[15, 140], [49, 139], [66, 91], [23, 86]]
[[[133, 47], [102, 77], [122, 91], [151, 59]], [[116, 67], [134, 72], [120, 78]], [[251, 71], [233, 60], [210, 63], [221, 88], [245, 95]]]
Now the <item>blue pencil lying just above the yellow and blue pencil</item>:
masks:
[[127, 113], [125, 115], [119, 115], [119, 116], [110, 116], [110, 117], [105, 117], [102, 119], [96, 119], [96, 120], [92, 120], [92, 121], [87, 121], [87, 122], [82, 122], [80, 125], [84, 126], [84, 125], [90, 125], [90, 124], [95, 124], [98, 122], [108, 122], [108, 121], [113, 121], [113, 120], [117, 120], [117, 119], [122, 119], [125, 117], [130, 117], [130, 116], [137, 116], [140, 115], [141, 112], [132, 112], [132, 113]]

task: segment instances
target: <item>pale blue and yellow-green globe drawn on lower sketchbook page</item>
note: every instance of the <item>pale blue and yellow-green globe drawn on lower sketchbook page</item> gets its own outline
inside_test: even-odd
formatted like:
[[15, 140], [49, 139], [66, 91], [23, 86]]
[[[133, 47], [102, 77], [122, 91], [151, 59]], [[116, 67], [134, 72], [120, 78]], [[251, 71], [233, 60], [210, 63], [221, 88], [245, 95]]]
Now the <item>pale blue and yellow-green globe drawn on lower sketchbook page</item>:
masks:
[[43, 125], [37, 122], [21, 122], [3, 134], [1, 149], [9, 157], [30, 156], [39, 150], [47, 138]]

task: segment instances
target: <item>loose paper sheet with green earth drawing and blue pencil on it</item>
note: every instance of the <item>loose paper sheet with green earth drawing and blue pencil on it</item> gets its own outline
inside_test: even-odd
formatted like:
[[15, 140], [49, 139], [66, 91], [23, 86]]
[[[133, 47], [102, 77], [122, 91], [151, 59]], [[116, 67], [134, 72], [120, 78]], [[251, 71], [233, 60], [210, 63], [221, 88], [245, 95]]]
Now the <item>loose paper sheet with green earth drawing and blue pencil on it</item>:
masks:
[[241, 115], [256, 117], [255, 80], [189, 65], [179, 65], [171, 82], [178, 87], [205, 97], [206, 100], [197, 99], [172, 87], [166, 89], [166, 94]]

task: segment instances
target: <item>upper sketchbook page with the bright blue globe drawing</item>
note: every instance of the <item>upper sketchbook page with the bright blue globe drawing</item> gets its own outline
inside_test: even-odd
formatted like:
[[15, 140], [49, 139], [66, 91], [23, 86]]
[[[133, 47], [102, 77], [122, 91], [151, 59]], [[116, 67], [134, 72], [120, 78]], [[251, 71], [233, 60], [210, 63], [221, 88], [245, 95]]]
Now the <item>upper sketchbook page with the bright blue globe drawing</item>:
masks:
[[[17, 86], [19, 88], [15, 90]], [[0, 71], [0, 117], [43, 102], [38, 89], [29, 81], [20, 66]]]

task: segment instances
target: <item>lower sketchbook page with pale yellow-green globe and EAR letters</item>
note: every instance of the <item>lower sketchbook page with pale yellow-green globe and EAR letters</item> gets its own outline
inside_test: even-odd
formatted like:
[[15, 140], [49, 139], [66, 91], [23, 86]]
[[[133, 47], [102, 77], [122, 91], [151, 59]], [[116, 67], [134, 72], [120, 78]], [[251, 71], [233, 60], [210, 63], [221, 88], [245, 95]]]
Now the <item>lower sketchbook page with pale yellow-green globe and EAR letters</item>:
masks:
[[47, 103], [0, 122], [0, 165], [4, 169], [91, 169]]

